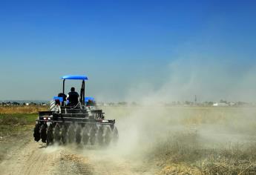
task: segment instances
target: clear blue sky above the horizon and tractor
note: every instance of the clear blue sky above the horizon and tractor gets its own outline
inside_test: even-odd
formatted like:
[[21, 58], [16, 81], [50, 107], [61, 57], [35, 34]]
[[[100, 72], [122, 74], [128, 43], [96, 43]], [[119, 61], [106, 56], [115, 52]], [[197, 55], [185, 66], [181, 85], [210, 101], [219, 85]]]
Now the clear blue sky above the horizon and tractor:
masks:
[[255, 7], [231, 0], [0, 1], [0, 99], [50, 99], [61, 89], [60, 76], [86, 74], [91, 96], [125, 100], [144, 85], [163, 90], [173, 75], [190, 82], [183, 75], [200, 67], [226, 77], [219, 82], [209, 73], [220, 90], [200, 94], [202, 100], [232, 99], [225, 94], [237, 90], [219, 87], [223, 82], [250, 79], [245, 87], [256, 87], [248, 78], [256, 63]]

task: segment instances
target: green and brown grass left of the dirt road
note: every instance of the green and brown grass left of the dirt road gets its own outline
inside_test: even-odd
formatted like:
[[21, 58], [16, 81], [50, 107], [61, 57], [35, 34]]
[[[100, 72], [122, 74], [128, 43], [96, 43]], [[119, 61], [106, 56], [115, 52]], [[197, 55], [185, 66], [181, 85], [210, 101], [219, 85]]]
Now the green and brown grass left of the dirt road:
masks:
[[[32, 133], [40, 106], [0, 107], [0, 161], [8, 150], [15, 145], [22, 145], [24, 136]], [[32, 136], [32, 134], [31, 134]], [[10, 145], [10, 143], [13, 143]]]

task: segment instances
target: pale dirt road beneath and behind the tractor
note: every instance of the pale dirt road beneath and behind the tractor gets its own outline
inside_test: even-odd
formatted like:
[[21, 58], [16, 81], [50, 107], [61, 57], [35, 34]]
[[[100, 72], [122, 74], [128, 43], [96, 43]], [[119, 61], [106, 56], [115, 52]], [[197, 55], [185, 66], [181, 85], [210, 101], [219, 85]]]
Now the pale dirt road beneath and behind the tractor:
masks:
[[115, 154], [111, 148], [77, 145], [46, 147], [32, 133], [13, 140], [0, 164], [0, 174], [154, 174], [140, 161]]

